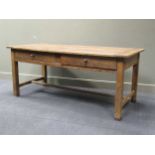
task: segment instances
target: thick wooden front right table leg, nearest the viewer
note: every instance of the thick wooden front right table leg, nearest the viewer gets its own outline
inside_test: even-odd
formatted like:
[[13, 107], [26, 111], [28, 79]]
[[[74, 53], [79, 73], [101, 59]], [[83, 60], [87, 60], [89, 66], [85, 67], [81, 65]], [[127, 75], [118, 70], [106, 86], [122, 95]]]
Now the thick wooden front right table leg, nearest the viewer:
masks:
[[124, 84], [124, 63], [117, 62], [116, 92], [115, 92], [115, 119], [121, 119]]

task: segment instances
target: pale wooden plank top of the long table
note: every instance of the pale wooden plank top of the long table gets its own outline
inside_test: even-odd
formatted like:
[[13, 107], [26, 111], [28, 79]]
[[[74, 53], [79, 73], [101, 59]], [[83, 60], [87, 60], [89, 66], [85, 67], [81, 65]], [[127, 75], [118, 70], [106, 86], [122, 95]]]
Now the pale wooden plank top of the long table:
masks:
[[11, 45], [8, 46], [8, 48], [15, 50], [35, 51], [35, 52], [87, 55], [87, 56], [99, 56], [99, 57], [118, 57], [118, 58], [131, 57], [135, 54], [144, 51], [144, 49], [142, 48], [59, 45], [59, 44]]

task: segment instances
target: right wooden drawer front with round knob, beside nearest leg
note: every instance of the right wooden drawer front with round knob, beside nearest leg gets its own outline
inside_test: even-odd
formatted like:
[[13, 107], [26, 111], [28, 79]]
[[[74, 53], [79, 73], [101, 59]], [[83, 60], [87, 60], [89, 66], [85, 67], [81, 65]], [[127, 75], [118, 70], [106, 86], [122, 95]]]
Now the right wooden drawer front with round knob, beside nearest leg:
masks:
[[62, 56], [63, 66], [75, 66], [97, 69], [116, 69], [116, 60], [109, 58], [83, 57], [83, 56]]

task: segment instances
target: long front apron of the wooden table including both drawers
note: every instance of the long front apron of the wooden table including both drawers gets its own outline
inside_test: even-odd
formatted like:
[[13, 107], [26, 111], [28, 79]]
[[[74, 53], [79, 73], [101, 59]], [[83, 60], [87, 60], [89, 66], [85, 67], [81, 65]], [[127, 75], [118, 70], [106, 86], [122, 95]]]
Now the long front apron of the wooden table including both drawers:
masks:
[[49, 65], [53, 67], [88, 68], [115, 71], [116, 58], [50, 54], [29, 51], [13, 51], [14, 60], [20, 62]]

